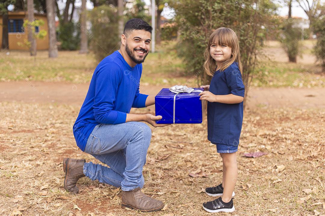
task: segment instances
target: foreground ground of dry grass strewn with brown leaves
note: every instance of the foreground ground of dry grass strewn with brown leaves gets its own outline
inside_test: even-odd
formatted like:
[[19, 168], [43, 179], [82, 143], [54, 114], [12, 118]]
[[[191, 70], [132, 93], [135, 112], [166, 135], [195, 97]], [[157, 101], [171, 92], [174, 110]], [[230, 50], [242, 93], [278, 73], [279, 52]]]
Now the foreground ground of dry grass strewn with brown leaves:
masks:
[[[66, 192], [64, 157], [98, 162], [75, 144], [72, 125], [78, 111], [53, 104], [0, 104], [0, 215], [211, 215], [201, 204], [213, 198], [202, 191], [221, 182], [222, 163], [207, 141], [206, 121], [152, 128], [143, 191], [162, 200], [163, 211], [123, 209], [119, 188], [87, 178], [78, 182], [80, 194]], [[324, 116], [323, 109], [245, 112], [232, 215], [325, 214]], [[243, 156], [252, 152], [268, 154]]]

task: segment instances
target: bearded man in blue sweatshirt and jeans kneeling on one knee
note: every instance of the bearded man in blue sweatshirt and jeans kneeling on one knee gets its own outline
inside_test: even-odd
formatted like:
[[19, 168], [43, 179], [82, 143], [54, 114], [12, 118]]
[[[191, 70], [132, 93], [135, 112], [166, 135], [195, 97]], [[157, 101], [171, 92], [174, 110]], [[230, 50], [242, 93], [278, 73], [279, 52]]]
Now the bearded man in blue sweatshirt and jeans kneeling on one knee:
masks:
[[166, 126], [155, 123], [161, 116], [130, 114], [131, 107], [153, 105], [154, 95], [139, 93], [142, 62], [150, 49], [152, 28], [142, 19], [131, 19], [124, 27], [120, 50], [104, 58], [92, 76], [84, 104], [73, 125], [78, 147], [97, 158], [102, 166], [85, 160], [65, 158], [64, 188], [78, 193], [76, 183], [92, 180], [122, 188], [124, 207], [149, 212], [164, 207], [160, 200], [141, 192], [151, 130]]

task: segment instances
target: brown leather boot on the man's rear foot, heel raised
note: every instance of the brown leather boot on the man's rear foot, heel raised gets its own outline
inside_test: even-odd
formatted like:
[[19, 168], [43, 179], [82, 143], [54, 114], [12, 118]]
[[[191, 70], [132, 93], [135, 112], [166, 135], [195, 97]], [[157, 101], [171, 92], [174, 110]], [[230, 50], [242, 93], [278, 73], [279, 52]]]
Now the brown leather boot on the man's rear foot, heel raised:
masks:
[[79, 178], [85, 177], [84, 175], [84, 163], [85, 159], [72, 159], [64, 158], [63, 159], [63, 172], [65, 173], [64, 177], [64, 189], [67, 191], [77, 194], [79, 193], [79, 188], [76, 186]]

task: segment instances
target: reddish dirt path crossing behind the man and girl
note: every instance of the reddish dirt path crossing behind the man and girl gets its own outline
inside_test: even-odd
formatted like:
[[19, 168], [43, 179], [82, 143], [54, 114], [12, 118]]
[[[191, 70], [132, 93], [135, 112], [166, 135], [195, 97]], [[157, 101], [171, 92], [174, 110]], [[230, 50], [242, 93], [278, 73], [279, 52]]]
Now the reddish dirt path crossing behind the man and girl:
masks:
[[[0, 102], [58, 103], [81, 106], [89, 84], [1, 82]], [[141, 86], [140, 92], [156, 94], [164, 86]], [[248, 107], [325, 108], [325, 88], [251, 88]]]

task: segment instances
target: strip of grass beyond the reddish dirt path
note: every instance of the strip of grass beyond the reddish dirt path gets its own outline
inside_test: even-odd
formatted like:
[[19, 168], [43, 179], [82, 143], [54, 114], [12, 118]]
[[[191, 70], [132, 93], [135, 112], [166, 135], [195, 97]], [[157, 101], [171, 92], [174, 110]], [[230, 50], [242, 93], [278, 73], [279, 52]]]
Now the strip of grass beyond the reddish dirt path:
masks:
[[[313, 40], [302, 42], [305, 53], [311, 53]], [[163, 41], [157, 52], [149, 53], [143, 63], [142, 85], [188, 85], [196, 86], [194, 76], [185, 76], [185, 64], [178, 58], [175, 41]], [[278, 41], [267, 41], [266, 49], [279, 49]], [[0, 81], [89, 82], [97, 66], [94, 55], [78, 51], [59, 51], [59, 57], [48, 58], [47, 51], [38, 51], [34, 58], [27, 51], [0, 52]], [[282, 63], [261, 60], [259, 76], [252, 85], [258, 87], [324, 87], [325, 76], [314, 63]]]

